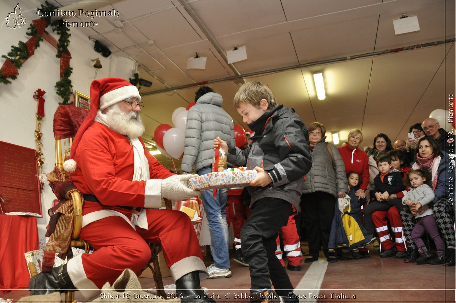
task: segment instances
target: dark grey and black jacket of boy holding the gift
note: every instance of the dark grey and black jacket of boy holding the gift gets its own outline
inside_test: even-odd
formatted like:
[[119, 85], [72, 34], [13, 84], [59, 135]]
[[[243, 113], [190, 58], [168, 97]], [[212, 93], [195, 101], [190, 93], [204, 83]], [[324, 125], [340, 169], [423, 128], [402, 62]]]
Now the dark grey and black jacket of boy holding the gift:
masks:
[[307, 126], [295, 110], [279, 105], [263, 131], [250, 137], [250, 149], [241, 151], [228, 144], [228, 162], [249, 170], [262, 167], [272, 179], [266, 187], [248, 187], [250, 208], [265, 197], [283, 199], [299, 208], [303, 177], [312, 167], [307, 139]]

